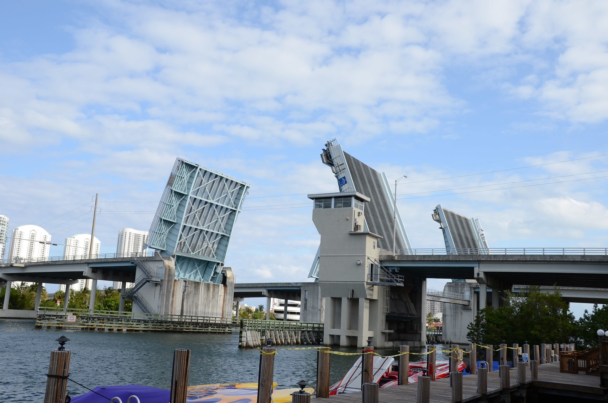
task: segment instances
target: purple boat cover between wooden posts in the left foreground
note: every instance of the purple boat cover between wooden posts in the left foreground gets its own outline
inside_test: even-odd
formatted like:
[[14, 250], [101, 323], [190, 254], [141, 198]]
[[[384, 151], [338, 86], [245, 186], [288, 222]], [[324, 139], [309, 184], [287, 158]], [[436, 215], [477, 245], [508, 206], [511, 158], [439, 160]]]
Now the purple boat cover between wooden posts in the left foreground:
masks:
[[[79, 394], [72, 398], [71, 403], [108, 403], [109, 399], [119, 397], [122, 403], [126, 403], [129, 396], [137, 396], [141, 403], [168, 403], [171, 399], [171, 392], [166, 389], [153, 388], [140, 385], [124, 385], [124, 386], [98, 386], [93, 389], [95, 392]], [[131, 403], [136, 403], [135, 399], [131, 399]]]

